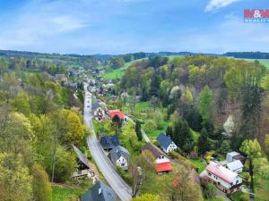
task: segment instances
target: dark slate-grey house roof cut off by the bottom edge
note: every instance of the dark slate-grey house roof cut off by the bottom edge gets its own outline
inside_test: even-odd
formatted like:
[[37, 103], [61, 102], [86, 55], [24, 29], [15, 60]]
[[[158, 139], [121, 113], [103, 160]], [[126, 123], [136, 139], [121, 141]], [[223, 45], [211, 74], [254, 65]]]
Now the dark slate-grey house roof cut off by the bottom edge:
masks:
[[102, 181], [98, 181], [80, 197], [80, 201], [117, 201], [117, 197], [112, 188], [108, 187]]

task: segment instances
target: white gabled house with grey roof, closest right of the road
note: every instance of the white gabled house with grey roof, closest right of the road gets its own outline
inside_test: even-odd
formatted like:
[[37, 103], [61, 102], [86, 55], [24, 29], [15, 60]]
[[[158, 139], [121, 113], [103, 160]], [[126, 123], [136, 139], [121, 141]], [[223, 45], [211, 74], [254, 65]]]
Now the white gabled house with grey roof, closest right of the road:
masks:
[[117, 146], [109, 152], [109, 157], [116, 166], [122, 170], [128, 170], [129, 152], [125, 147]]

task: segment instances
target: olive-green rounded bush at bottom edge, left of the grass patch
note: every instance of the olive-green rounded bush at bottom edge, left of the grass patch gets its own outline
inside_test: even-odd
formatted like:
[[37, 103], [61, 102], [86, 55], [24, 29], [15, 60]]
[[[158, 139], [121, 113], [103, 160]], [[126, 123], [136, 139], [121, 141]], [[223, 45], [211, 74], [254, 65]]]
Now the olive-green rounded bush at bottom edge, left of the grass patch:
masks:
[[39, 164], [34, 164], [31, 169], [33, 176], [33, 196], [38, 201], [50, 201], [52, 189], [48, 180], [48, 174]]

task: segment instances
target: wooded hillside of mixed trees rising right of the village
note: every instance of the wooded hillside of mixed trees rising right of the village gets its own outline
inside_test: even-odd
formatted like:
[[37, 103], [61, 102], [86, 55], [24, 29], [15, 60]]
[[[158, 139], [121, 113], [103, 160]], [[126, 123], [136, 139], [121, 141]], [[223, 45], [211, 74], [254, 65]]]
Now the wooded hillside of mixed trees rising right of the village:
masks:
[[[269, 131], [268, 80], [268, 71], [258, 61], [205, 55], [172, 60], [156, 56], [129, 67], [120, 88], [167, 108], [168, 118], [179, 113], [193, 130], [202, 128], [197, 128], [196, 122], [202, 116], [206, 125], [214, 128], [209, 130], [211, 138], [220, 137], [223, 123], [232, 115], [236, 130], [230, 146], [239, 150], [246, 138], [258, 138], [263, 145]], [[180, 97], [177, 101], [175, 94]]]

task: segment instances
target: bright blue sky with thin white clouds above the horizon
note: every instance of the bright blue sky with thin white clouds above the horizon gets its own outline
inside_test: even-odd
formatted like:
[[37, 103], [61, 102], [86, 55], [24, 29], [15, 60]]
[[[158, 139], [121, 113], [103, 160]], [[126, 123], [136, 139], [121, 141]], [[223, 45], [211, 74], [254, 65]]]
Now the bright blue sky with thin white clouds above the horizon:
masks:
[[0, 49], [43, 53], [269, 52], [268, 0], [0, 0]]

